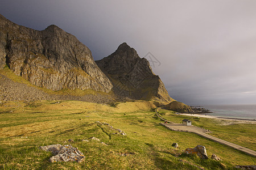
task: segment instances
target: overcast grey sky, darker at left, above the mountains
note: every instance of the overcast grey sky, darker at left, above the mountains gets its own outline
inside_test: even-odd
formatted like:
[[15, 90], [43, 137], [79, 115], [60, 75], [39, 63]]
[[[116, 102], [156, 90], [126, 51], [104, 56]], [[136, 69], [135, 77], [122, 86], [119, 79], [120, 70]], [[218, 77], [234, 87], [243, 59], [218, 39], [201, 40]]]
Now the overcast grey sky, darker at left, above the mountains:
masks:
[[0, 14], [16, 24], [37, 30], [55, 24], [72, 33], [94, 60], [127, 42], [177, 101], [256, 104], [255, 0], [0, 3]]

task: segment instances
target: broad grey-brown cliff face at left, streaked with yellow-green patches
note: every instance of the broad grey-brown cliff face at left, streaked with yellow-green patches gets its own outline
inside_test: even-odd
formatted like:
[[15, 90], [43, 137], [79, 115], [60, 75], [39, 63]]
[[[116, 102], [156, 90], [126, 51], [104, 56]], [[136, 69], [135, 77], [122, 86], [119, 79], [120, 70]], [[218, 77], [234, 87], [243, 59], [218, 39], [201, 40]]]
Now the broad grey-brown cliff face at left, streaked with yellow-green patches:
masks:
[[6, 64], [16, 75], [53, 91], [109, 92], [113, 87], [90, 50], [75, 36], [55, 25], [36, 31], [0, 15], [0, 69]]

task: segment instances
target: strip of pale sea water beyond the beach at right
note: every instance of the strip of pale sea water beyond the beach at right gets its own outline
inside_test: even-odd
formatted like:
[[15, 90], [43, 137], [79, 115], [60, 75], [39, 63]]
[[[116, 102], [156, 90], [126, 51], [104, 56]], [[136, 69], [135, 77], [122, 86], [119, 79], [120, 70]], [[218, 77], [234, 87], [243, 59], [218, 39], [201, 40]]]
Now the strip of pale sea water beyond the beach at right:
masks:
[[256, 104], [204, 105], [203, 108], [213, 112], [207, 113], [210, 116], [256, 120]]

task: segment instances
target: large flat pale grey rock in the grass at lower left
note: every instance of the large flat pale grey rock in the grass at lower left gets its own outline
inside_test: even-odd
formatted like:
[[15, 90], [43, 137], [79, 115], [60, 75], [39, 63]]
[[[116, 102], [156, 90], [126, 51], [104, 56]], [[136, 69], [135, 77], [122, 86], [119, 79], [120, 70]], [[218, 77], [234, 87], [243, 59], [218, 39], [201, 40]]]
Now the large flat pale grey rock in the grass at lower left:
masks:
[[49, 159], [49, 162], [81, 162], [84, 159], [84, 154], [78, 148], [71, 145], [62, 146], [56, 144], [40, 146], [39, 149], [52, 152], [54, 156]]

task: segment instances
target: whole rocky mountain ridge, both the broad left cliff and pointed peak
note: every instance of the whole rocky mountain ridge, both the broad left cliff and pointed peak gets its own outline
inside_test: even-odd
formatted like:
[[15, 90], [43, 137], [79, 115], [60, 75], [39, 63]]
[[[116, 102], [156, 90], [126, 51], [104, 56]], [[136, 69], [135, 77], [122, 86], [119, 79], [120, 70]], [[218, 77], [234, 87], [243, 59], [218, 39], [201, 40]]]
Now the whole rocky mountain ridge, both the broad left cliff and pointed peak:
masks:
[[95, 62], [87, 46], [56, 25], [37, 31], [0, 15], [0, 70], [5, 66], [32, 85], [52, 91], [93, 90], [114, 92], [114, 98], [174, 101], [147, 59], [126, 43]]

